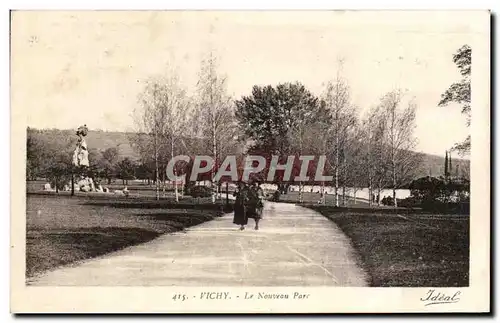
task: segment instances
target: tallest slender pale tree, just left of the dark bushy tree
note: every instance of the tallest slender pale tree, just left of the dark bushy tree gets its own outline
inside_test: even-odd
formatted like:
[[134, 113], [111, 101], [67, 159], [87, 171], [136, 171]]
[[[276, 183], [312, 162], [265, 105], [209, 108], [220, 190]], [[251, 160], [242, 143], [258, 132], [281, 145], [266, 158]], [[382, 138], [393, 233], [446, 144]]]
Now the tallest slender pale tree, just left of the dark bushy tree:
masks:
[[211, 183], [215, 194], [218, 185], [215, 183], [215, 173], [221, 155], [230, 147], [236, 134], [233, 104], [226, 90], [226, 77], [217, 72], [218, 63], [212, 53], [202, 61], [197, 83], [196, 111], [193, 119], [193, 129], [196, 136], [204, 138], [209, 153], [214, 159]]

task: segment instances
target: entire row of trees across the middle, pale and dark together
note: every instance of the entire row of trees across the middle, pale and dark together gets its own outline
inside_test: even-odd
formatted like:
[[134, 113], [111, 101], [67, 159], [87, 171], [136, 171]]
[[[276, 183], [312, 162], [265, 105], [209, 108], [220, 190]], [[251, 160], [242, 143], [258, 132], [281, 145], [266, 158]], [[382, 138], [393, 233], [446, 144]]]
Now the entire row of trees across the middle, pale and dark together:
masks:
[[[172, 72], [151, 78], [139, 102], [133, 146], [142, 163], [154, 161], [158, 175], [158, 169], [178, 154], [209, 155], [216, 161], [216, 171], [225, 156], [242, 153], [242, 146], [248, 154], [267, 159], [278, 155], [284, 161], [291, 155], [326, 155], [325, 175], [334, 176], [339, 205], [339, 189], [345, 200], [346, 186], [368, 186], [370, 196], [372, 190], [391, 187], [395, 196], [397, 188], [413, 179], [419, 162], [412, 151], [414, 102], [394, 90], [360, 118], [340, 73], [319, 97], [300, 83], [283, 83], [254, 86], [250, 95], [233, 100], [227, 94], [226, 77], [217, 72], [217, 61], [210, 56], [202, 62], [194, 96]], [[215, 171], [210, 175], [217, 188]], [[279, 176], [274, 182], [286, 190]], [[299, 184], [301, 199], [304, 183]], [[322, 182], [322, 187], [330, 184]]]

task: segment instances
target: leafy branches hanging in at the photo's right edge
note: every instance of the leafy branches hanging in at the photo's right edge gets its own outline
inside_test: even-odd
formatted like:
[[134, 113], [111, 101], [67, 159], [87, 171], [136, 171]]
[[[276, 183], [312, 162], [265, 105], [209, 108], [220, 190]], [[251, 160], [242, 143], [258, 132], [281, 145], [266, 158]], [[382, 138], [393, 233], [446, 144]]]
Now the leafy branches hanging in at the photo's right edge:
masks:
[[[443, 94], [438, 106], [447, 106], [455, 102], [462, 105], [462, 114], [466, 116], [467, 126], [470, 126], [471, 107], [470, 107], [470, 75], [472, 65], [472, 49], [469, 45], [464, 45], [453, 55], [453, 62], [457, 65], [462, 75], [462, 79], [453, 83]], [[470, 135], [461, 143], [455, 144], [453, 150], [460, 154], [470, 153]]]

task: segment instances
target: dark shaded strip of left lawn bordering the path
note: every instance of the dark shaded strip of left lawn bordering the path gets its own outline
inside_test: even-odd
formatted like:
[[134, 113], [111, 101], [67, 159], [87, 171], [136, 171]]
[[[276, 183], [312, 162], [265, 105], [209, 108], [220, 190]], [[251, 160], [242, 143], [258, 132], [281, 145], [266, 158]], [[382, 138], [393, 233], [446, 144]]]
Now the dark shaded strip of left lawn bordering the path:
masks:
[[[29, 229], [26, 235], [26, 277], [70, 265], [82, 260], [102, 256], [129, 246], [148, 242], [161, 234], [185, 230], [210, 221], [223, 213], [217, 210], [185, 212], [128, 213], [140, 218], [138, 223], [125, 223], [123, 227], [74, 227], [65, 229], [45, 227]], [[141, 224], [142, 223], [142, 224]], [[132, 227], [126, 227], [132, 225]], [[146, 226], [140, 228], [137, 226]], [[149, 228], [148, 228], [149, 227]]]

